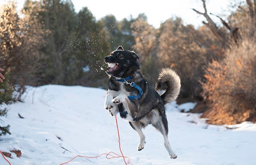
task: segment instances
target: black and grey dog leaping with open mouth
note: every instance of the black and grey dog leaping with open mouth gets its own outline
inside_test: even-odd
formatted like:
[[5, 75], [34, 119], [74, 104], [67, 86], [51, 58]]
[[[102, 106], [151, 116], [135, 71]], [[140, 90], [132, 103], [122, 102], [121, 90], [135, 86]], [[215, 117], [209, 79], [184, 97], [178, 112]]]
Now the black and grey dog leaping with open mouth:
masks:
[[[164, 146], [170, 158], [177, 158], [168, 141], [168, 123], [164, 105], [174, 101], [180, 93], [180, 77], [170, 68], [163, 68], [158, 77], [155, 90], [148, 85], [140, 72], [139, 56], [134, 51], [124, 50], [119, 46], [105, 57], [108, 64], [108, 94], [105, 109], [111, 116], [118, 112], [129, 121], [131, 127], [140, 136], [138, 150], [145, 144], [141, 128], [152, 124], [163, 134]], [[159, 95], [156, 91], [166, 84], [165, 92]]]

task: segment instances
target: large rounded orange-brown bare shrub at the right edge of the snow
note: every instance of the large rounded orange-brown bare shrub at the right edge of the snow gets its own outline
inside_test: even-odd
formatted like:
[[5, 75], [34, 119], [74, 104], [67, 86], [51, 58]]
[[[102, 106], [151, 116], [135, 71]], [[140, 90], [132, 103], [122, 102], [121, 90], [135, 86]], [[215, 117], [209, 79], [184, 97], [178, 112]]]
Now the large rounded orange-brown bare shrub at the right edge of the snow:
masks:
[[206, 69], [203, 92], [209, 109], [202, 117], [213, 124], [256, 122], [255, 40], [245, 38], [230, 46], [225, 59]]

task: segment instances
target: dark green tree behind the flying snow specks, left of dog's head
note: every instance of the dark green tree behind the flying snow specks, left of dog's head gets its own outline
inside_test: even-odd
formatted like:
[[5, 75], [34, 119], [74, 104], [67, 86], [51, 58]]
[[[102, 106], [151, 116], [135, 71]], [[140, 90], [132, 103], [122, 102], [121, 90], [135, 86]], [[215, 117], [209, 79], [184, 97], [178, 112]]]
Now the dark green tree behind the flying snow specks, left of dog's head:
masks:
[[72, 62], [73, 70], [75, 67], [78, 69], [75, 74], [80, 75], [77, 75], [76, 81], [73, 82], [85, 86], [101, 86], [102, 81], [107, 81], [102, 70], [105, 68], [104, 57], [110, 51], [103, 24], [96, 21], [87, 7], [78, 12], [77, 20], [77, 39], [73, 45], [76, 58], [73, 58]]

